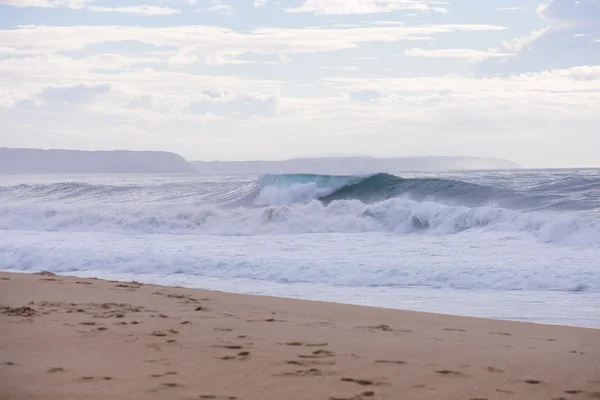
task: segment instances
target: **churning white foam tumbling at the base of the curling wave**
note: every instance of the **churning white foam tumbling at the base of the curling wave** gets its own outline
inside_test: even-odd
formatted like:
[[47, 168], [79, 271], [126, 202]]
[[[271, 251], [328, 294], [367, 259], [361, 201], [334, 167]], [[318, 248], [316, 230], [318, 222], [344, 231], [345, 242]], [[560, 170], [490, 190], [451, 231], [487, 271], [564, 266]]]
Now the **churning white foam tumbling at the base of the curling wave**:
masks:
[[0, 229], [130, 234], [266, 235], [389, 232], [453, 235], [463, 231], [528, 232], [541, 242], [600, 245], [600, 223], [575, 216], [519, 213], [495, 207], [455, 207], [390, 199], [318, 201], [262, 208], [208, 205], [0, 207]]

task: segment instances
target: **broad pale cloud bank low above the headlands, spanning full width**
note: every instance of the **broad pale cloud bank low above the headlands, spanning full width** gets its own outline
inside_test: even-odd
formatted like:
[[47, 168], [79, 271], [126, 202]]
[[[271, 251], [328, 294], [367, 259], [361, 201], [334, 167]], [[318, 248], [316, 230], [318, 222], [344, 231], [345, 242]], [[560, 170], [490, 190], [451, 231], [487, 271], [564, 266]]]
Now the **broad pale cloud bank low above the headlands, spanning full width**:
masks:
[[[46, 68], [41, 75], [23, 64], [0, 73], [0, 104], [8, 96], [34, 102], [0, 109], [3, 143], [99, 149], [108, 140], [198, 159], [310, 155], [319, 143], [323, 151], [343, 146], [380, 156], [399, 148], [403, 154], [511, 154], [529, 166], [591, 165], [600, 145], [600, 66], [491, 78], [336, 77], [315, 82], [327, 94], [293, 96], [277, 81], [151, 70], [57, 75], [48, 70], [52, 63], [39, 61]], [[74, 63], [71, 68], [81, 67]], [[28, 94], [30, 85], [58, 79], [87, 83]], [[98, 88], [103, 85], [110, 91]], [[43, 104], [44, 93], [52, 108]], [[65, 99], [80, 103], [59, 106]], [[541, 140], [544, 152], [532, 155]], [[576, 141], [577, 151], [564, 153]]]

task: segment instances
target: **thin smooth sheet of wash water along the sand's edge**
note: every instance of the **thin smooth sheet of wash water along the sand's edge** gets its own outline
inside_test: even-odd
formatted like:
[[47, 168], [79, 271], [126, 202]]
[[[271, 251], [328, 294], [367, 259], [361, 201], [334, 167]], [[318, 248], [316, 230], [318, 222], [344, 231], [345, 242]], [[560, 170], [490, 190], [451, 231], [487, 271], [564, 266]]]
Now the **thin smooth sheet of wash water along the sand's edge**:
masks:
[[[17, 270], [5, 270], [5, 272], [33, 273], [31, 271]], [[78, 271], [74, 273], [75, 275], [69, 275], [69, 272], [58, 272], [57, 275], [82, 279], [102, 276], [100, 279], [104, 280], [140, 280], [141, 283], [147, 285], [158, 284], [168, 287], [227, 292], [231, 294], [318, 301], [499, 321], [600, 329], [600, 317], [594, 311], [591, 311], [592, 308], [597, 308], [597, 304], [600, 304], [600, 294], [595, 293], [552, 290], [533, 293], [519, 290], [491, 289], [473, 291], [470, 289], [431, 289], [427, 287], [401, 287], [399, 291], [390, 291], [389, 287], [336, 287], [327, 284], [315, 285], [306, 283], [280, 284], [268, 282], [261, 285], [260, 281], [240, 278], [227, 280], [221, 277], [187, 276], [184, 282], [182, 279], [173, 279], [172, 275], [163, 277], [161, 275], [145, 274], [140, 276], [133, 273], [111, 274], [105, 271]], [[162, 283], [157, 283], [161, 280]], [[253, 290], [249, 291], [248, 287], [252, 287]], [[349, 296], [350, 292], [352, 292], [352, 296]], [[359, 297], [356, 297], [357, 294], [359, 294]], [[542, 295], [541, 297], [540, 294]], [[568, 302], [565, 301], [565, 296], [569, 297]], [[457, 302], [457, 297], [461, 298], [462, 301]], [[363, 300], [358, 301], [356, 300], [357, 298]], [[364, 299], [368, 299], [368, 301], [364, 301]], [[494, 307], [494, 312], [490, 312], [489, 307], [485, 306], [490, 301], [502, 304], [505, 310], [503, 311]], [[415, 304], [419, 305], [415, 306]], [[443, 306], [439, 306], [440, 304], [443, 304]], [[474, 304], [477, 304], [477, 306], [474, 306]], [[541, 307], [542, 304], [548, 304], [548, 306]], [[552, 311], [552, 317], [547, 316], [548, 311], [550, 311], [549, 309]], [[453, 310], [455, 312], [451, 312]], [[573, 311], [576, 311], [576, 314], [573, 314]], [[573, 315], [577, 315], [577, 318], [573, 318]]]

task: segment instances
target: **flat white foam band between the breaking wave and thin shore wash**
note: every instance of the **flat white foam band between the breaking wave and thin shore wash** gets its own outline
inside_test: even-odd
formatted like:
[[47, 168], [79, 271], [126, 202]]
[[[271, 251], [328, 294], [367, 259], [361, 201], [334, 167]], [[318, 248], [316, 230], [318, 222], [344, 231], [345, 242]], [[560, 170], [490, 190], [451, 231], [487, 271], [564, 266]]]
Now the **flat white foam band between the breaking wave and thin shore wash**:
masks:
[[[351, 254], [349, 257], [348, 255]], [[543, 256], [542, 256], [543, 255]], [[9, 232], [5, 269], [256, 279], [341, 286], [600, 292], [598, 248], [542, 244], [525, 233], [237, 236]]]

